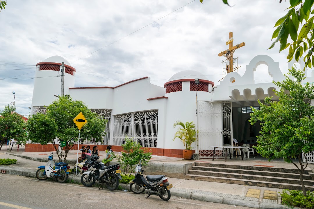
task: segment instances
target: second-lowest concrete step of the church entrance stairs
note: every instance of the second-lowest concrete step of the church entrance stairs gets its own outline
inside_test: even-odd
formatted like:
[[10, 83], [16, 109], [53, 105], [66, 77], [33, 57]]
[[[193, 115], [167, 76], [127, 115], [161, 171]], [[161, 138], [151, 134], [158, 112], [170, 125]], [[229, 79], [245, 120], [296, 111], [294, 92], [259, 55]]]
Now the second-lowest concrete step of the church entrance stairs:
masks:
[[[264, 175], [248, 175], [248, 174], [236, 174], [236, 173], [224, 173], [215, 171], [202, 171], [202, 170], [189, 170], [190, 175], [201, 175], [201, 176], [214, 176], [214, 177], [225, 177], [237, 180], [256, 180], [264, 182], [276, 182], [276, 183], [287, 183], [287, 184], [301, 184], [300, 179], [291, 179], [283, 177], [274, 176], [264, 176]], [[312, 180], [303, 180], [305, 185], [313, 185]]]

